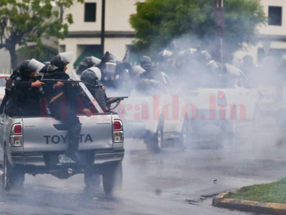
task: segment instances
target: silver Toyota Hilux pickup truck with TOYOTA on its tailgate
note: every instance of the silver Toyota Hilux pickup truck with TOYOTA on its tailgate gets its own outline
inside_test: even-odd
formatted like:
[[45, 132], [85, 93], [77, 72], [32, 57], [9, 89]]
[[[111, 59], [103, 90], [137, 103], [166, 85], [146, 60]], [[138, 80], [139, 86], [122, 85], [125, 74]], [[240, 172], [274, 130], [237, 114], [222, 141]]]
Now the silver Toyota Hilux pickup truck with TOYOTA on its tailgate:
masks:
[[[84, 88], [84, 85], [82, 85]], [[86, 90], [86, 89], [85, 89]], [[102, 175], [104, 192], [122, 187], [124, 131], [117, 113], [78, 115], [82, 123], [76, 163], [63, 153], [68, 147], [67, 128], [53, 117], [9, 117], [0, 113], [0, 185], [22, 187], [25, 173], [51, 174], [66, 179], [84, 173], [86, 186], [98, 186]]]

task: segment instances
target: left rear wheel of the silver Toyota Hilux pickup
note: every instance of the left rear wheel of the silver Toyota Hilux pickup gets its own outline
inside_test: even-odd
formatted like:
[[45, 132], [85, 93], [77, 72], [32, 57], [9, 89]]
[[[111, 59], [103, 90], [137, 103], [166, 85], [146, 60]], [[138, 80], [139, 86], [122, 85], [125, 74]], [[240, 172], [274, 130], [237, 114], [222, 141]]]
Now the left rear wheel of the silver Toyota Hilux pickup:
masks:
[[8, 160], [5, 149], [4, 169], [1, 177], [1, 189], [10, 190], [11, 188], [21, 189], [24, 186], [25, 174], [19, 167], [13, 167]]

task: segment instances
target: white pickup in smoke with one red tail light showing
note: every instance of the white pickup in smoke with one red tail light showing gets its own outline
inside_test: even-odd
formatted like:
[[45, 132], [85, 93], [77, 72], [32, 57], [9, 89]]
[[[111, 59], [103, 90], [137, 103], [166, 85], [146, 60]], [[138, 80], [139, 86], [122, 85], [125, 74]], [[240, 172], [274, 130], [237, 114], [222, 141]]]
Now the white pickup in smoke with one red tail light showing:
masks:
[[254, 119], [257, 89], [251, 88], [233, 66], [226, 65], [225, 72], [218, 79], [205, 78], [204, 84], [189, 88], [193, 133], [205, 125], [217, 125], [224, 133], [233, 134], [237, 123]]

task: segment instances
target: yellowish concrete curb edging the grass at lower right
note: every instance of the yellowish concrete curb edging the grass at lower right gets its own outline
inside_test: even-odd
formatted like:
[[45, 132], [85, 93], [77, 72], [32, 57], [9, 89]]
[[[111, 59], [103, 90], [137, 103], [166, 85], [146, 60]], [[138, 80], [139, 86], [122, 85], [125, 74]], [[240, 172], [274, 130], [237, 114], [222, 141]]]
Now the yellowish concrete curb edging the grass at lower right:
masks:
[[233, 210], [243, 210], [248, 212], [257, 212], [264, 214], [286, 214], [286, 204], [270, 203], [270, 202], [257, 202], [239, 199], [223, 198], [229, 194], [230, 191], [221, 193], [212, 199], [212, 205], [220, 208], [228, 208]]

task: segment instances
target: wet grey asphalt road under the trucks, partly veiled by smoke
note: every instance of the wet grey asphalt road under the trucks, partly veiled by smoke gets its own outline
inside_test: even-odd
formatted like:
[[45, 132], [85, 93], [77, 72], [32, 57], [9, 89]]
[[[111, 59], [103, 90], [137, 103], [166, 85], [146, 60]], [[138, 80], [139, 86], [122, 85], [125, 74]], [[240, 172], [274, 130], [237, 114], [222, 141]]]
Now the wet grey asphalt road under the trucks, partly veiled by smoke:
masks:
[[102, 186], [86, 189], [83, 175], [26, 175], [23, 192], [0, 194], [0, 214], [249, 214], [212, 207], [211, 197], [286, 176], [286, 143], [277, 141], [283, 133], [268, 122], [243, 124], [237, 137], [223, 140], [208, 128], [185, 152], [160, 154], [128, 139], [120, 197], [106, 197]]

